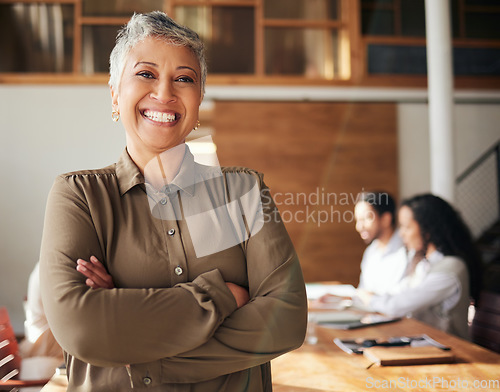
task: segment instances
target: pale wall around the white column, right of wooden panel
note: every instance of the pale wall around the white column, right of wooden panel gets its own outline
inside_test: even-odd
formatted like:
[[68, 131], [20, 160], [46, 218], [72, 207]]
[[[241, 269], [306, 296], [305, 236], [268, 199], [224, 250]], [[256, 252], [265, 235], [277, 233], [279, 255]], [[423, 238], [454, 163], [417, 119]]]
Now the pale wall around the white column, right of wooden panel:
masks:
[[[500, 140], [500, 104], [458, 103], [454, 107], [455, 177], [461, 175], [489, 147]], [[429, 116], [425, 103], [398, 105], [400, 197], [429, 192]], [[477, 237], [498, 219], [498, 183], [491, 157], [475, 177], [456, 189], [455, 207]], [[488, 172], [488, 173], [487, 173]], [[488, 176], [485, 179], [482, 176]], [[488, 182], [489, 181], [489, 182]]]

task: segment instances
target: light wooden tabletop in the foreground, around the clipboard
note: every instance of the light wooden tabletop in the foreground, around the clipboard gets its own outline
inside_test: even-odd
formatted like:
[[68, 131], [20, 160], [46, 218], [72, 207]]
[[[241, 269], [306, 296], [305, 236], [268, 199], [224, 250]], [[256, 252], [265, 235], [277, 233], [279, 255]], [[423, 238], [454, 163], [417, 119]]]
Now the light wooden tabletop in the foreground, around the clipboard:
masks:
[[[316, 345], [304, 344], [272, 361], [274, 392], [500, 391], [499, 354], [414, 319], [350, 331], [320, 326], [316, 333]], [[347, 354], [333, 343], [335, 337], [389, 338], [421, 334], [451, 347], [456, 362], [367, 368], [368, 359]]]

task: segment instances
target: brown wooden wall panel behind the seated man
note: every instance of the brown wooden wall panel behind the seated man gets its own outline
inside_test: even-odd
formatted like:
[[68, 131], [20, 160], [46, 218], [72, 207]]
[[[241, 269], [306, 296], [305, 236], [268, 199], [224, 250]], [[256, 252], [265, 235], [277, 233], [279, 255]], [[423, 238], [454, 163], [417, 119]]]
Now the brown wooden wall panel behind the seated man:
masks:
[[374, 188], [397, 196], [395, 105], [220, 101], [212, 125], [221, 165], [265, 174], [306, 280], [357, 284], [355, 198]]

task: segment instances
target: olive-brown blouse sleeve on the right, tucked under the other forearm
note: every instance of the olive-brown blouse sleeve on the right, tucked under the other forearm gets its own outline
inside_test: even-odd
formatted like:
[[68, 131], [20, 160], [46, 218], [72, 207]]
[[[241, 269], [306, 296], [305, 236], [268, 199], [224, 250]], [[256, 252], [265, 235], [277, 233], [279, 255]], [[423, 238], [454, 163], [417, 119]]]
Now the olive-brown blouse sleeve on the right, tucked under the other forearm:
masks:
[[[163, 359], [164, 383], [201, 382], [258, 366], [304, 340], [307, 299], [299, 259], [262, 176], [251, 174], [257, 176], [263, 212], [263, 225], [247, 216], [250, 232], [258, 228], [244, 243], [251, 300], [206, 343]], [[131, 368], [140, 374], [142, 366]]]

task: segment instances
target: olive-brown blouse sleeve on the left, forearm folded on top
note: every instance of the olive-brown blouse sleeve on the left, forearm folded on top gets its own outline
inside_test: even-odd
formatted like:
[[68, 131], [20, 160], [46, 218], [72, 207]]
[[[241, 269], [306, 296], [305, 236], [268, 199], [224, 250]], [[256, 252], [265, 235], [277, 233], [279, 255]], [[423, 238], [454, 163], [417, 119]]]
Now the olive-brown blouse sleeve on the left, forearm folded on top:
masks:
[[[85, 285], [76, 260], [102, 260], [105, 252], [89, 208], [89, 187], [75, 178], [59, 177], [50, 191], [40, 257], [42, 300], [63, 349], [96, 366], [119, 366], [175, 356], [209, 340], [236, 309], [218, 270], [165, 289]], [[98, 180], [90, 188], [106, 191]]]

